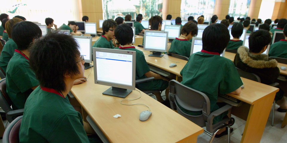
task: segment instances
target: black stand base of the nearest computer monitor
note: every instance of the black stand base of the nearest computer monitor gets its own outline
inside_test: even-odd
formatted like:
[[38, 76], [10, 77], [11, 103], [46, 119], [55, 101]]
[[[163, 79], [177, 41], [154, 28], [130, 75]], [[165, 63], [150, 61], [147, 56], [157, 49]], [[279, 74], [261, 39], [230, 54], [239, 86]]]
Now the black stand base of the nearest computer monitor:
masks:
[[103, 94], [120, 98], [126, 98], [126, 96], [128, 96], [131, 92], [132, 90], [129, 89], [110, 87], [108, 90], [103, 92]]

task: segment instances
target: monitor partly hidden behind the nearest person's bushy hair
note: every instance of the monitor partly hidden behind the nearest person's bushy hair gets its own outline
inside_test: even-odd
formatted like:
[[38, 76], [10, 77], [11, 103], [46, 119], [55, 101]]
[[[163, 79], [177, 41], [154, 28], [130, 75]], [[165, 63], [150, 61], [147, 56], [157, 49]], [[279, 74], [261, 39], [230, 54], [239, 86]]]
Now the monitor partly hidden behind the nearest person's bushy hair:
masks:
[[85, 59], [85, 69], [91, 67], [92, 63], [92, 37], [91, 36], [76, 36], [73, 35], [73, 38], [80, 46], [80, 54], [84, 56]]

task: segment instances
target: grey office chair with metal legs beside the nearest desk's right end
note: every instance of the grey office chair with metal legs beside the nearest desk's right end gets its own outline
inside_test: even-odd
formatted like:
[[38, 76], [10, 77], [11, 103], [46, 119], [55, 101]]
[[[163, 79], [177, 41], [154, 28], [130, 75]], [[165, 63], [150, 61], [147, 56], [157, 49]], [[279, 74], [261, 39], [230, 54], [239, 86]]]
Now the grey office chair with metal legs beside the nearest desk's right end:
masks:
[[[204, 133], [211, 136], [209, 143], [211, 143], [216, 133], [225, 127], [228, 128], [228, 143], [230, 142], [230, 125], [225, 124], [230, 120], [229, 117], [225, 117], [220, 122], [213, 124], [213, 118], [219, 116], [225, 111], [231, 112], [231, 105], [225, 105], [222, 108], [210, 113], [210, 100], [202, 92], [184, 86], [176, 80], [170, 80], [169, 83], [170, 93], [170, 106], [174, 110], [177, 108], [177, 113], [189, 119], [200, 127], [206, 127]], [[201, 115], [194, 116], [184, 113], [178, 105], [189, 111], [202, 111]], [[212, 134], [213, 133], [213, 134]]]

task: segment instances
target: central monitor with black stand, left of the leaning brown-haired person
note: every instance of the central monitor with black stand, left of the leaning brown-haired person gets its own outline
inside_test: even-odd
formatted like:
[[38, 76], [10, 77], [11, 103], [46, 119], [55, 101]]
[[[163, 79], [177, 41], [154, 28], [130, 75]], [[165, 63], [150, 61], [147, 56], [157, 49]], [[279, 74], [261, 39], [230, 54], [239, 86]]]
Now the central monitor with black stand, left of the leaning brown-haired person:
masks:
[[144, 31], [144, 50], [154, 51], [149, 56], [162, 57], [161, 52], [167, 52], [167, 38], [166, 31]]

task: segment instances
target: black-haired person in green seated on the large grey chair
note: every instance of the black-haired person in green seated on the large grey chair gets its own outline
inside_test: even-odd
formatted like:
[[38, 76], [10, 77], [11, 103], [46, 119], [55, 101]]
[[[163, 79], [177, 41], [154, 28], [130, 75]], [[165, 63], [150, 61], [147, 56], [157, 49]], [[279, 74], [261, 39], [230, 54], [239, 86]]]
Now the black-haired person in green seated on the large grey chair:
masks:
[[[221, 57], [230, 40], [227, 27], [223, 24], [212, 24], [206, 27], [202, 35], [201, 52], [190, 55], [187, 64], [181, 70], [182, 84], [201, 91], [207, 95], [210, 100], [210, 112], [216, 111], [226, 105], [217, 102], [219, 94], [237, 94], [241, 93], [243, 85], [240, 76], [231, 60]], [[220, 42], [218, 42], [220, 41]], [[204, 65], [204, 66], [203, 66]], [[208, 87], [208, 88], [206, 88]], [[179, 106], [182, 111], [190, 115], [201, 115], [202, 111], [189, 111]], [[221, 121], [228, 111], [216, 116], [213, 124]], [[234, 118], [228, 122], [233, 125]], [[230, 128], [230, 132], [233, 129]], [[219, 130], [215, 137], [221, 137], [227, 134], [226, 128]]]

